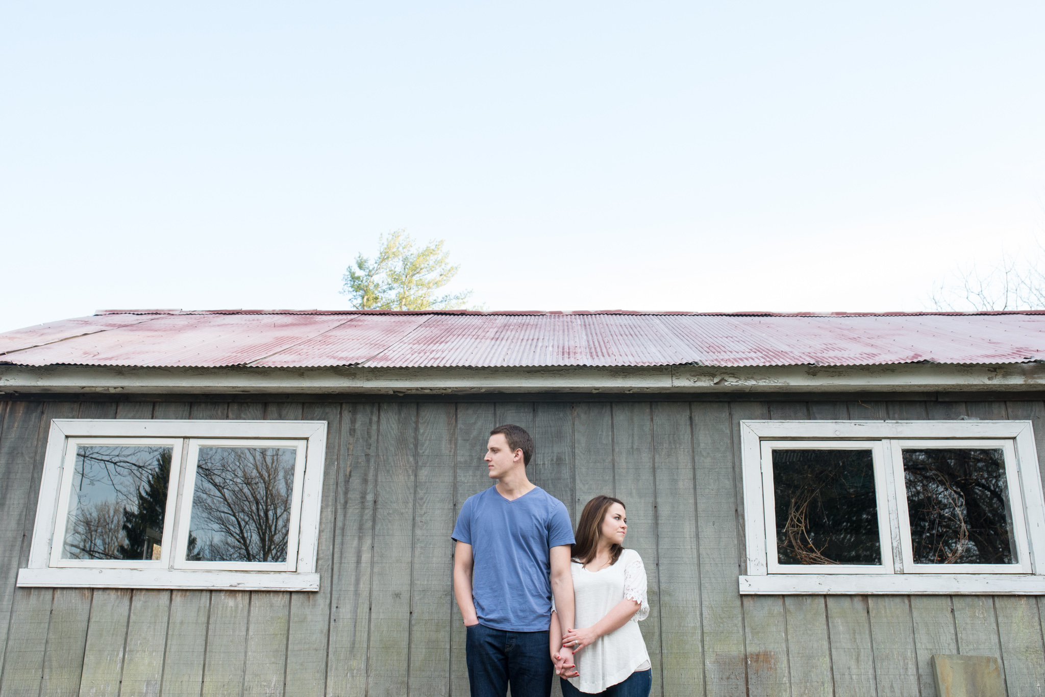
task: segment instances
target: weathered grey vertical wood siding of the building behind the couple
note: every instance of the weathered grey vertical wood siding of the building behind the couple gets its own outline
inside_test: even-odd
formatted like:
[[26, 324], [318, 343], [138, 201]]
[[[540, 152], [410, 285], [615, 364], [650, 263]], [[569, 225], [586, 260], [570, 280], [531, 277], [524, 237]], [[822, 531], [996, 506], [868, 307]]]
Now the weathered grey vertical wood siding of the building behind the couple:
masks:
[[[737, 593], [741, 419], [958, 416], [1031, 419], [1045, 450], [1039, 401], [0, 402], [0, 697], [467, 695], [449, 534], [504, 422], [575, 521], [597, 493], [628, 504], [654, 695], [932, 697], [933, 653], [997, 656], [1009, 695], [1042, 695], [1039, 598]], [[320, 591], [16, 588], [49, 419], [70, 417], [326, 420]]]

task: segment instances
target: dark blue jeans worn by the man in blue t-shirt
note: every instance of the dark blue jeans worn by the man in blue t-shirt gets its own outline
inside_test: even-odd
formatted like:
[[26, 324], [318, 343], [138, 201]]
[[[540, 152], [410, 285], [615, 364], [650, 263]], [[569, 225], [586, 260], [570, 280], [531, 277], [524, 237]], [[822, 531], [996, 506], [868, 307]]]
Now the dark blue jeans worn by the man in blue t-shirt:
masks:
[[549, 697], [555, 666], [547, 631], [505, 631], [466, 627], [465, 655], [471, 697]]

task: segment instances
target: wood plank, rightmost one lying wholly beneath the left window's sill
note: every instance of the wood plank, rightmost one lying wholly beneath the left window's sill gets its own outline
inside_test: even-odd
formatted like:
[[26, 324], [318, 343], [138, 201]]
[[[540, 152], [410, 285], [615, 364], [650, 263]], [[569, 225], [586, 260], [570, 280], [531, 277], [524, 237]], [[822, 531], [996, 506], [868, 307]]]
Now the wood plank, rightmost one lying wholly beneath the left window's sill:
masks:
[[[251, 594], [250, 630], [243, 666], [243, 697], [282, 697], [286, 675], [286, 637], [291, 594], [255, 590]], [[322, 627], [316, 628], [317, 633]], [[292, 691], [294, 688], [291, 688]], [[294, 692], [294, 694], [297, 694]]]

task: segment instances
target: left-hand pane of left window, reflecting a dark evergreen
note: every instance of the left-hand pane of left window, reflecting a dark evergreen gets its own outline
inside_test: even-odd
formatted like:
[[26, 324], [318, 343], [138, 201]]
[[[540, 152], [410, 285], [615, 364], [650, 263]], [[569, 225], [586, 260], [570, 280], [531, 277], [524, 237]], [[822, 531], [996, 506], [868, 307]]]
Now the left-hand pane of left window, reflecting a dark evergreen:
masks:
[[172, 448], [80, 445], [63, 559], [159, 559]]

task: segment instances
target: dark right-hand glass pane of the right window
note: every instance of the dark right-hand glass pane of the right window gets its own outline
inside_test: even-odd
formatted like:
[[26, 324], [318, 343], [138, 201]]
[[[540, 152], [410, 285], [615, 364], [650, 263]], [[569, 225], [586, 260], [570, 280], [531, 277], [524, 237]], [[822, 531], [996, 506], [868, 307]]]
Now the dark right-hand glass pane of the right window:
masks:
[[1001, 448], [903, 454], [914, 563], [1016, 563]]

